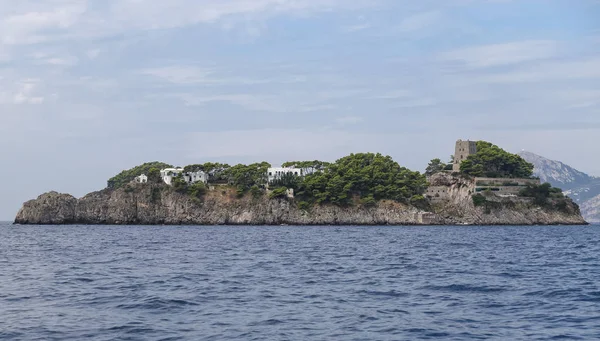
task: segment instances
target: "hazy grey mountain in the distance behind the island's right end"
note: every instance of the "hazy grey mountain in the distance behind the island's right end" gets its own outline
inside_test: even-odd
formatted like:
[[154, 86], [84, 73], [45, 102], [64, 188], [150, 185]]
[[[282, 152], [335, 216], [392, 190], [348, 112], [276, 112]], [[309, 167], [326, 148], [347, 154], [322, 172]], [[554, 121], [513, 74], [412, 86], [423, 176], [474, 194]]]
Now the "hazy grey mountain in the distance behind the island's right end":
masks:
[[554, 187], [562, 188], [566, 195], [581, 206], [583, 217], [590, 222], [600, 222], [600, 178], [537, 154], [523, 151], [519, 155], [535, 166], [534, 174]]

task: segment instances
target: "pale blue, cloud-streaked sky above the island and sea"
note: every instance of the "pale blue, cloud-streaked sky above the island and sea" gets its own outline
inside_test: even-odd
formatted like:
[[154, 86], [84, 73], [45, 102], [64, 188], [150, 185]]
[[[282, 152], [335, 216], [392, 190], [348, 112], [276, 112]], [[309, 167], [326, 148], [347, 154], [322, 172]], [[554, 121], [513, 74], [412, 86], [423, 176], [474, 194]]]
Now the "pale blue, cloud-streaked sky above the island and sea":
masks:
[[0, 220], [155, 160], [460, 138], [600, 175], [599, 134], [598, 0], [0, 0]]

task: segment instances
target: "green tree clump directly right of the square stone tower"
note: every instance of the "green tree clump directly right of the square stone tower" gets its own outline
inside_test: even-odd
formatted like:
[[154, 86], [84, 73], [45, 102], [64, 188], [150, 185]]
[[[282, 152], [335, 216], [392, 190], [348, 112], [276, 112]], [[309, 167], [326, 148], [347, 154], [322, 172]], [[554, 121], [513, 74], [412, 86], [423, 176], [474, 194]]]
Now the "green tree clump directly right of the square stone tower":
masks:
[[528, 178], [533, 165], [519, 155], [511, 154], [489, 142], [477, 142], [477, 153], [460, 165], [464, 174], [488, 178]]

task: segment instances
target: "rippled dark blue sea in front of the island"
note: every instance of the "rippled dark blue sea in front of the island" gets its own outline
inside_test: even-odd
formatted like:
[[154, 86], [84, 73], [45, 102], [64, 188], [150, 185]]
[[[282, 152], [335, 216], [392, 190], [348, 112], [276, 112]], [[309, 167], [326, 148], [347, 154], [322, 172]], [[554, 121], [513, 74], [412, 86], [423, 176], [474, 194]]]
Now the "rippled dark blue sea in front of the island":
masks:
[[2, 340], [600, 339], [600, 226], [0, 223]]

